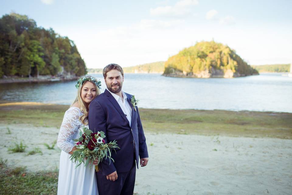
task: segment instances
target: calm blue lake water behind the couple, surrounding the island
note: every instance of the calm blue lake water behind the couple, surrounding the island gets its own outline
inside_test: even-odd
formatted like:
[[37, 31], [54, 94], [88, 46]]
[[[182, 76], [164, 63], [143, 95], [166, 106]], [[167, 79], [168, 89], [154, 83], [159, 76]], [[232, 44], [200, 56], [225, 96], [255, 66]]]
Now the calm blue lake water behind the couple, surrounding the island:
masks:
[[[102, 74], [93, 74], [102, 80]], [[292, 78], [267, 73], [233, 79], [172, 78], [160, 74], [125, 74], [123, 91], [141, 108], [223, 109], [292, 112]], [[76, 81], [0, 85], [0, 100], [70, 105]]]

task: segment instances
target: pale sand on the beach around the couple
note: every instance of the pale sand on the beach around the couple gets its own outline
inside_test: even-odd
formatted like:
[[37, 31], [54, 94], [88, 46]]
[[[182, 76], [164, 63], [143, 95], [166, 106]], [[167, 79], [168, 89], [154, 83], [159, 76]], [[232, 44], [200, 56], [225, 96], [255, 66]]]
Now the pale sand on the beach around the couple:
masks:
[[[7, 127], [12, 134], [7, 133]], [[54, 171], [60, 149], [47, 149], [59, 129], [0, 124], [1, 158], [28, 171]], [[135, 194], [292, 194], [292, 140], [145, 133], [149, 163], [136, 174]], [[23, 141], [25, 153], [9, 154]], [[39, 147], [43, 155], [27, 156]]]

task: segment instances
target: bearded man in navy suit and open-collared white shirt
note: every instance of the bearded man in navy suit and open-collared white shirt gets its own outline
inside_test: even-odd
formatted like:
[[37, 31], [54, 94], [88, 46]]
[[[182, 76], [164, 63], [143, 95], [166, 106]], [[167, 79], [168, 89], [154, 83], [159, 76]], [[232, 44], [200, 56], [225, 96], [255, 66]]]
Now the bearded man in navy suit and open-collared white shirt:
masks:
[[120, 149], [111, 153], [114, 162], [107, 158], [99, 163], [98, 192], [99, 195], [132, 195], [139, 157], [142, 167], [148, 162], [144, 131], [132, 95], [122, 91], [123, 69], [109, 64], [103, 69], [103, 77], [107, 89], [89, 105], [89, 129], [105, 132], [106, 142], [116, 140]]

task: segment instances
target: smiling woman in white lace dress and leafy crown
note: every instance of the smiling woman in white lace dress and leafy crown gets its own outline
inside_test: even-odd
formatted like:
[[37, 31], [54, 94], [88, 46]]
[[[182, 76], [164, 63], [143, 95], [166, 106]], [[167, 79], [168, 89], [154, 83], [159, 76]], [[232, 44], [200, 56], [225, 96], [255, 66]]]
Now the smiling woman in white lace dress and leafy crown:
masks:
[[[100, 82], [92, 76], [78, 80], [77, 97], [65, 112], [58, 135], [57, 146], [62, 150], [60, 156], [58, 195], [97, 195], [95, 168], [82, 163], [77, 168], [70, 161], [71, 154], [76, 150], [73, 139], [78, 139], [79, 131], [88, 128], [89, 103], [100, 94]], [[96, 165], [94, 162], [93, 165]]]

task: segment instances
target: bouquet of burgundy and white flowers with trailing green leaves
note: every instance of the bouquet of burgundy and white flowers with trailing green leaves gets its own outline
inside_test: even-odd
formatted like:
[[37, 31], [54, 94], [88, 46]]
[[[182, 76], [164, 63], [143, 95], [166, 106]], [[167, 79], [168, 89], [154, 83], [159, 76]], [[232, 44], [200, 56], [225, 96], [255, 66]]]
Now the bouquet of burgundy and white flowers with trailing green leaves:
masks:
[[[115, 151], [115, 148], [119, 147], [116, 144], [116, 140], [106, 144], [103, 139], [105, 137], [103, 131], [93, 133], [90, 129], [84, 127], [83, 132], [80, 131], [79, 139], [74, 140], [77, 150], [73, 152], [70, 160], [78, 162], [76, 167], [81, 165], [82, 162], [85, 163], [84, 166], [90, 164], [91, 167], [95, 159], [98, 159], [98, 163], [100, 163], [103, 158], [109, 158], [114, 162], [113, 158], [111, 158], [111, 151], [112, 149]], [[95, 166], [95, 170], [97, 172], [99, 171], [98, 165]]]

